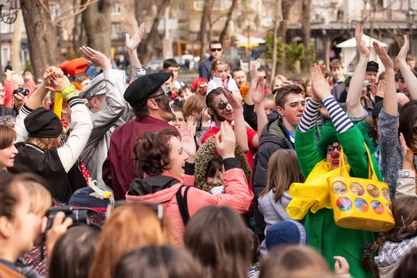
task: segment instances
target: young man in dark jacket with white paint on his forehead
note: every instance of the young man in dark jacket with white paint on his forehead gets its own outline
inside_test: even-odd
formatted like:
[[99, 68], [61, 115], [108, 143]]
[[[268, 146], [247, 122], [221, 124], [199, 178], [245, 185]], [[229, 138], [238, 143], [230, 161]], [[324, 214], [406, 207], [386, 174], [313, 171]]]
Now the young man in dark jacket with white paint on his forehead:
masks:
[[253, 167], [253, 190], [255, 195], [254, 216], [256, 234], [264, 238], [265, 222], [258, 209], [258, 194], [265, 188], [268, 177], [268, 161], [279, 149], [293, 149], [295, 129], [302, 117], [306, 102], [302, 89], [297, 85], [288, 85], [278, 90], [275, 95], [275, 106], [279, 117], [268, 121], [259, 138], [259, 149], [256, 152]]

